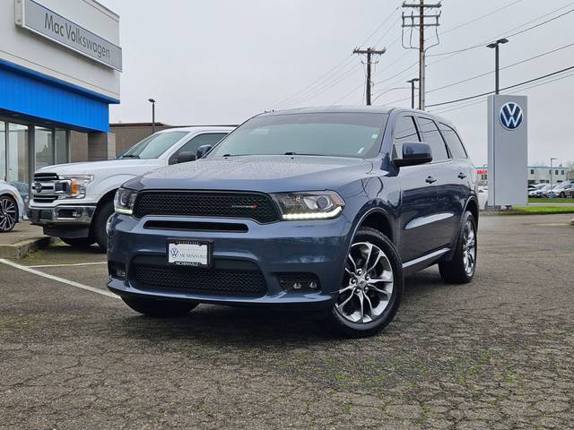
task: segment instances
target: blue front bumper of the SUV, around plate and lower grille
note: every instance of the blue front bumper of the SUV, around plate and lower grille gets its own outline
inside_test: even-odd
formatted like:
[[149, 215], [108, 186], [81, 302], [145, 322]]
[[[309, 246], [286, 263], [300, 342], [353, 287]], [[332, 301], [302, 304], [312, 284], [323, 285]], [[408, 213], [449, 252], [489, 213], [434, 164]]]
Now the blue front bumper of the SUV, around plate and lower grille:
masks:
[[[170, 221], [189, 218], [170, 217]], [[352, 222], [344, 215], [337, 219], [313, 221], [282, 221], [258, 224], [248, 219], [196, 219], [204, 223], [245, 224], [248, 232], [183, 231], [144, 228], [148, 221], [166, 217], [134, 219], [116, 214], [109, 226], [108, 260], [122, 264], [126, 278], [110, 276], [108, 288], [122, 297], [148, 297], [172, 300], [192, 300], [223, 305], [263, 305], [288, 309], [323, 309], [330, 307], [338, 296], [344, 278], [344, 260], [351, 240]], [[265, 294], [258, 297], [210, 292], [187, 292], [185, 288], [141, 288], [135, 280], [135, 261], [155, 259], [167, 266], [168, 238], [213, 241], [213, 261], [236, 261], [255, 264], [265, 279]], [[317, 291], [286, 291], [281, 276], [310, 273], [317, 277]]]

